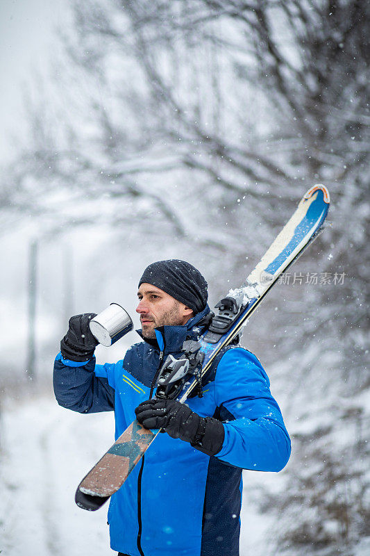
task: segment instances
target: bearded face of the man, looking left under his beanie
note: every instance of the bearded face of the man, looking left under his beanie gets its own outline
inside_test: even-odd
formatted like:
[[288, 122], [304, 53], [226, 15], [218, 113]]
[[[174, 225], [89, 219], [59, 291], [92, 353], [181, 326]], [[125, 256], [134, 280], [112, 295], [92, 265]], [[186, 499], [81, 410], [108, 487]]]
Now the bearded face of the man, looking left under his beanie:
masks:
[[160, 326], [185, 325], [194, 315], [192, 309], [151, 284], [140, 284], [137, 297], [144, 338], [155, 338], [154, 329]]

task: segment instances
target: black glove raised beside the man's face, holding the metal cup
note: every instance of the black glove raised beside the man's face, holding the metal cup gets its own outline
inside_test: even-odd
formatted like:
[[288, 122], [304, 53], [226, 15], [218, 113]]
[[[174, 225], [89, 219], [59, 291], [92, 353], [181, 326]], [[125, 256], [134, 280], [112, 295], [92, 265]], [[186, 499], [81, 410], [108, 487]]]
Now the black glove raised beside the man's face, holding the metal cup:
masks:
[[89, 327], [89, 322], [94, 317], [96, 313], [85, 313], [69, 319], [68, 332], [60, 342], [60, 351], [65, 359], [82, 362], [92, 358], [99, 343]]

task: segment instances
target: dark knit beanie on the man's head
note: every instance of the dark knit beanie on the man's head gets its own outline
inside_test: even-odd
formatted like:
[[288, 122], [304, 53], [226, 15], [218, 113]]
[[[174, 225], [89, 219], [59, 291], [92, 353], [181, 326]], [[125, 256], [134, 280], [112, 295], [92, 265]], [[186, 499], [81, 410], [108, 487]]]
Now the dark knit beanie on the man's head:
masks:
[[140, 278], [140, 284], [152, 284], [176, 300], [200, 313], [208, 300], [208, 284], [196, 268], [186, 261], [170, 259], [152, 263]]

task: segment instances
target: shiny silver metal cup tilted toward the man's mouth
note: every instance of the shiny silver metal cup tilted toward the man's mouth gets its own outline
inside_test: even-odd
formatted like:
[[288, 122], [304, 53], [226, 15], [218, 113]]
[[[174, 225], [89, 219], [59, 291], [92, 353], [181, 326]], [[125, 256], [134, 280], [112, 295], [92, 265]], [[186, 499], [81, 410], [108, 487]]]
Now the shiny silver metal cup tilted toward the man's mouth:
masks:
[[90, 330], [101, 345], [114, 344], [133, 329], [133, 321], [118, 303], [111, 303], [90, 320]]

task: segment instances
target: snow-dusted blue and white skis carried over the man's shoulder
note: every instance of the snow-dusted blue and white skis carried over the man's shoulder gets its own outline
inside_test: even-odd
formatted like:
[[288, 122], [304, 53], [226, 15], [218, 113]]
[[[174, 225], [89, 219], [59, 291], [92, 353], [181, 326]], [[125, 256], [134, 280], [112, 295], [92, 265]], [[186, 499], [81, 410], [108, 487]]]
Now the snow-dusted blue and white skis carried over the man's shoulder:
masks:
[[[329, 204], [330, 197], [325, 186], [315, 185], [310, 188], [244, 284], [230, 290], [216, 305], [219, 313], [212, 318], [210, 327], [196, 343], [194, 369], [201, 361], [200, 377], [193, 376], [185, 384], [182, 383], [182, 389], [176, 395], [180, 402], [185, 402], [196, 388], [220, 350], [241, 332], [278, 277], [317, 238]], [[191, 359], [192, 355], [190, 347], [187, 357]], [[163, 386], [158, 386], [156, 395], [160, 393], [163, 393]], [[76, 504], [90, 511], [99, 509], [124, 484], [158, 433], [159, 430], [146, 430], [137, 420], [133, 421], [78, 485]]]

